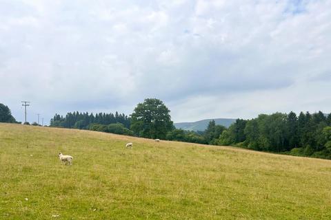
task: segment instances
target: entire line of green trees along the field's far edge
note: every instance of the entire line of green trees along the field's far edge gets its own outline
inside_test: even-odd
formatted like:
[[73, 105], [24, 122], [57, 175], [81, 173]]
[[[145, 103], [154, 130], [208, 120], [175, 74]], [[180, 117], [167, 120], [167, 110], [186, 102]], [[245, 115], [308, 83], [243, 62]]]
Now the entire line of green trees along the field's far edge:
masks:
[[[3, 104], [0, 122], [16, 122]], [[55, 114], [50, 126], [331, 159], [331, 114], [327, 116], [321, 111], [261, 114], [251, 120], [237, 119], [228, 128], [212, 120], [205, 131], [184, 131], [175, 129], [170, 110], [161, 100], [147, 98], [137, 104], [130, 116], [76, 111], [66, 117]]]

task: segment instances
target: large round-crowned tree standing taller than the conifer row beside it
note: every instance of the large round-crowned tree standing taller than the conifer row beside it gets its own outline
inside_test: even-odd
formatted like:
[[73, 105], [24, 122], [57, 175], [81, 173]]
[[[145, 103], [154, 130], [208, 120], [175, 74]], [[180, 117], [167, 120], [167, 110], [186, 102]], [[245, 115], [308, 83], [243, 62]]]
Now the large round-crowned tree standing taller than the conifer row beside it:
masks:
[[146, 98], [131, 115], [131, 129], [140, 137], [165, 139], [168, 131], [174, 129], [170, 110], [161, 100]]

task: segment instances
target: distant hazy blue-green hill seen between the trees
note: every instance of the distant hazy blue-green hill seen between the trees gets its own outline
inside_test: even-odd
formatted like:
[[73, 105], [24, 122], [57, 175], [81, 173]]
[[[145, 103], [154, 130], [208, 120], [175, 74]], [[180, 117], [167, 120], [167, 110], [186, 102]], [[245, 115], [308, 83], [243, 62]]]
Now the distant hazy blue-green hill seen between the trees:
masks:
[[[180, 122], [180, 123], [174, 123], [174, 126], [176, 129], [183, 129], [188, 131], [205, 131], [207, 129], [208, 123], [213, 119], [205, 119], [200, 120], [197, 122]], [[216, 124], [220, 124], [223, 126], [230, 126], [233, 122], [236, 121], [234, 118], [215, 118], [214, 119]]]

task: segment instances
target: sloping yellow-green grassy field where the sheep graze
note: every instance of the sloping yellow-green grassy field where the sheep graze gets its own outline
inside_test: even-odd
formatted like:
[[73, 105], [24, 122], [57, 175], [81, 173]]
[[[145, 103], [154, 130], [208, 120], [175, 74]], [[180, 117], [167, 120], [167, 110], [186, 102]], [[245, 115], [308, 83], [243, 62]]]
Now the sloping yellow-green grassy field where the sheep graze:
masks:
[[331, 161], [0, 124], [0, 219], [331, 219]]

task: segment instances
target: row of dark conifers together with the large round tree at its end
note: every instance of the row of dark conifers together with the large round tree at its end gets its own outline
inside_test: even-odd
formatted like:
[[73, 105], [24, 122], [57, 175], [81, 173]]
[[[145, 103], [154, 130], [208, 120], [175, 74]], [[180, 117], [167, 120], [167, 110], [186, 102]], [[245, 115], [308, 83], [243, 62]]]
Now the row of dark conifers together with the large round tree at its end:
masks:
[[50, 126], [69, 129], [89, 129], [137, 137], [165, 139], [168, 131], [174, 129], [170, 110], [161, 100], [147, 98], [137, 104], [130, 117], [124, 113], [67, 113], [66, 117], [55, 114]]

